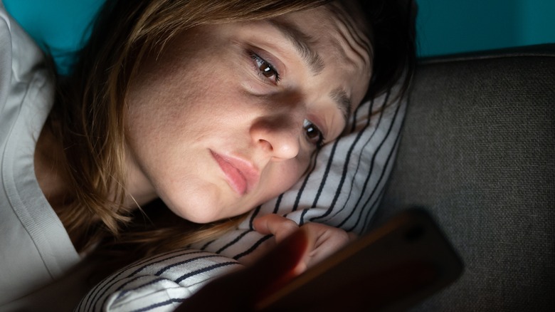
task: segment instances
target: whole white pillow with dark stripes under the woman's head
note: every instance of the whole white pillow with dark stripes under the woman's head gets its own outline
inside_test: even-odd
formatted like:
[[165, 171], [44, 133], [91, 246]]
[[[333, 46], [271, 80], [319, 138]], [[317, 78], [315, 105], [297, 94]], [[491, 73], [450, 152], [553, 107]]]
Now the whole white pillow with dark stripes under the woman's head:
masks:
[[363, 103], [349, 121], [349, 134], [324, 146], [310, 173], [253, 209], [238, 229], [189, 250], [127, 266], [97, 284], [76, 311], [173, 311], [213, 277], [264, 251], [271, 236], [253, 229], [253, 219], [263, 214], [365, 232], [393, 166], [405, 110], [406, 101], [396, 89]]

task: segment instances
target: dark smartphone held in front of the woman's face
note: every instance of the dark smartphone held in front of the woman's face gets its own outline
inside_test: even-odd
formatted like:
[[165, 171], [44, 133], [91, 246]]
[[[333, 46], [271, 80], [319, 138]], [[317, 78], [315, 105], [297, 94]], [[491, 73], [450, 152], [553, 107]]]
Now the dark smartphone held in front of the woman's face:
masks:
[[462, 271], [460, 257], [430, 214], [411, 208], [266, 296], [257, 308], [403, 311]]

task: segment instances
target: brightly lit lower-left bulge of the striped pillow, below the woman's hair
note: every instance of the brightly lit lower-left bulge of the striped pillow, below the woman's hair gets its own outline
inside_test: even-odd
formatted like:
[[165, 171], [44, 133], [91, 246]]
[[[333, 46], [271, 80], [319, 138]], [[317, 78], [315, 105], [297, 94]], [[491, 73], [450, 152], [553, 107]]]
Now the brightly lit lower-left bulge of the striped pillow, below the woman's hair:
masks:
[[174, 311], [211, 279], [241, 267], [236, 260], [208, 251], [159, 254], [108, 276], [75, 311]]

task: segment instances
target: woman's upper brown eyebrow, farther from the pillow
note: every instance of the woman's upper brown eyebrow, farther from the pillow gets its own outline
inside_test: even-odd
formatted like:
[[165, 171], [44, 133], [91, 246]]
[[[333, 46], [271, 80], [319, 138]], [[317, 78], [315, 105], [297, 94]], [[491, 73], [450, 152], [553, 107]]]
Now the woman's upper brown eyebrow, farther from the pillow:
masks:
[[310, 68], [310, 71], [314, 76], [322, 73], [325, 67], [324, 61], [322, 61], [322, 58], [310, 46], [310, 43], [314, 42], [314, 38], [307, 33], [303, 33], [295, 25], [289, 24], [285, 21], [270, 19], [268, 22], [270, 25], [277, 28], [277, 30], [292, 43], [295, 50], [297, 50], [297, 53], [300, 54], [302, 60], [307, 63], [308, 68]]

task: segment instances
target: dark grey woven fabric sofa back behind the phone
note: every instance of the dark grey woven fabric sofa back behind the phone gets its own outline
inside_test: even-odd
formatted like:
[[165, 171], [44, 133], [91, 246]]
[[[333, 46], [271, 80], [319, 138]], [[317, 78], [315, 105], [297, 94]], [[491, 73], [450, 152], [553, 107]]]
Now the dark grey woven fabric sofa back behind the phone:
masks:
[[376, 222], [412, 204], [465, 262], [415, 311], [555, 311], [555, 44], [418, 66]]

